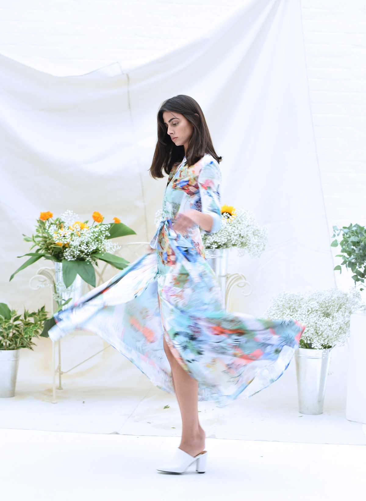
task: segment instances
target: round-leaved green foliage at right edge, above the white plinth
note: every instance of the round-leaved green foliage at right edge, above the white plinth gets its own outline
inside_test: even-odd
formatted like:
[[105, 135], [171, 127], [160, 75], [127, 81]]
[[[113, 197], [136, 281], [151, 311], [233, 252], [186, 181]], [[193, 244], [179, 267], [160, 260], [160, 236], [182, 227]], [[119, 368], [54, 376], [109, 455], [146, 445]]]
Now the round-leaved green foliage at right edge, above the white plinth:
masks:
[[[354, 285], [360, 282], [359, 285], [364, 283], [366, 278], [366, 228], [360, 226], [359, 224], [350, 224], [349, 226], [343, 226], [338, 228], [333, 226], [333, 235], [339, 236], [342, 233], [342, 239], [338, 242], [337, 239], [331, 242], [332, 247], [337, 247], [340, 244], [340, 252], [342, 254], [337, 254], [337, 258], [342, 258], [343, 261], [340, 265], [337, 265], [334, 270], [339, 270], [342, 273], [342, 266], [348, 270], [350, 269], [354, 275], [352, 279], [354, 280]], [[363, 291], [363, 288], [359, 289]]]

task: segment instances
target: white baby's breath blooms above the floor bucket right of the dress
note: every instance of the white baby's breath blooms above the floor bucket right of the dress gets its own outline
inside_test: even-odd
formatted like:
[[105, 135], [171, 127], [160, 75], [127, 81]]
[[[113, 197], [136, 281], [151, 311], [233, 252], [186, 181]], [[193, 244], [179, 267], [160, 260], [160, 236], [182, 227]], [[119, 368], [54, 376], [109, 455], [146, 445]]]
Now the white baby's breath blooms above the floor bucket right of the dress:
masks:
[[349, 336], [350, 315], [365, 309], [360, 294], [354, 289], [348, 294], [338, 289], [305, 294], [280, 292], [272, 299], [264, 317], [306, 324], [300, 348], [324, 350], [343, 346]]

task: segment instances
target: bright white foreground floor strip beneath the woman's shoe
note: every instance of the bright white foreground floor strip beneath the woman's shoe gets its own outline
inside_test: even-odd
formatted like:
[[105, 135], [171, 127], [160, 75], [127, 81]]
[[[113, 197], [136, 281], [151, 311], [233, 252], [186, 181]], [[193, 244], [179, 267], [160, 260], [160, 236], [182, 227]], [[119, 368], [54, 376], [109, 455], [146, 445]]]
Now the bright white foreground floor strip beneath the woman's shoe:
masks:
[[178, 439], [1, 429], [2, 501], [364, 501], [366, 448], [207, 439], [205, 474], [158, 473]]

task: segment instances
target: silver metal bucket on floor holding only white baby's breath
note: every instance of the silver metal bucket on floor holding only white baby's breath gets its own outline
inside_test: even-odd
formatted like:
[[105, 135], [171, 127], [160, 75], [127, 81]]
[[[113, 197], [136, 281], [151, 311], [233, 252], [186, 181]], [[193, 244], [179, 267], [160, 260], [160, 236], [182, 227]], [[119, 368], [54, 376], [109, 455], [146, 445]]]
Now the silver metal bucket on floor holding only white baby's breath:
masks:
[[295, 351], [298, 410], [301, 414], [322, 414], [330, 348]]

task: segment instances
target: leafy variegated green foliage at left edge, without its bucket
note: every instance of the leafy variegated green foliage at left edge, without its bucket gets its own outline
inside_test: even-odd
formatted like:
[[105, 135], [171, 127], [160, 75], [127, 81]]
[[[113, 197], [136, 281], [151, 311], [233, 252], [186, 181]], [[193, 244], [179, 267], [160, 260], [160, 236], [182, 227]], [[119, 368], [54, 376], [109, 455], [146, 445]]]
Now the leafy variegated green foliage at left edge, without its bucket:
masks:
[[0, 303], [0, 350], [32, 350], [35, 345], [33, 338], [41, 334], [47, 316], [44, 306], [37, 312], [24, 310], [22, 315], [18, 315], [15, 310]]

